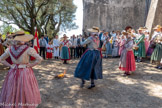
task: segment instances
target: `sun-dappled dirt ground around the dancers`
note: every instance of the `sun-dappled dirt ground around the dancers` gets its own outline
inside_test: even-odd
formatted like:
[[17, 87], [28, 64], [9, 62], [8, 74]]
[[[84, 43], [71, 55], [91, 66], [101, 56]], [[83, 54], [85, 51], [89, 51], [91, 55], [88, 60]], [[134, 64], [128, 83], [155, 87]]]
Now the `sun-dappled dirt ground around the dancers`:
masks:
[[[74, 78], [78, 60], [68, 65], [61, 61], [44, 60], [34, 67], [42, 103], [38, 108], [162, 108], [162, 70], [146, 63], [137, 64], [137, 70], [124, 77], [118, 69], [118, 58], [103, 59], [104, 79], [96, 81], [92, 90], [79, 88]], [[55, 75], [67, 69], [64, 79]], [[0, 65], [0, 89], [7, 70]]]

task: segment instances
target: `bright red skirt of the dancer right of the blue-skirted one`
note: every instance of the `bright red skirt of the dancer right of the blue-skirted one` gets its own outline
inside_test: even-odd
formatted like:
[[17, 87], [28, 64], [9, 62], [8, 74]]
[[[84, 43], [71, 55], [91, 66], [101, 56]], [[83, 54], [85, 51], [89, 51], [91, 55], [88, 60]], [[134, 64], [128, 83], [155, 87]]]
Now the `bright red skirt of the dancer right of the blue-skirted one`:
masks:
[[134, 53], [133, 51], [128, 51], [127, 52], [127, 57], [126, 57], [126, 67], [119, 67], [122, 71], [135, 71], [136, 70], [136, 63], [135, 63], [135, 58], [134, 58]]

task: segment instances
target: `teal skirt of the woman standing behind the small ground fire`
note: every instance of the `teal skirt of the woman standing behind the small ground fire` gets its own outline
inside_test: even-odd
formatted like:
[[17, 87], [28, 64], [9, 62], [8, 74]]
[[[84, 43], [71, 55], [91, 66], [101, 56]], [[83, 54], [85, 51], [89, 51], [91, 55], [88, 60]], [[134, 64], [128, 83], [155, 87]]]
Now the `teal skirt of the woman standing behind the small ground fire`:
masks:
[[69, 48], [66, 47], [66, 46], [63, 46], [62, 47], [62, 50], [61, 50], [61, 60], [70, 60], [70, 51], [69, 51]]

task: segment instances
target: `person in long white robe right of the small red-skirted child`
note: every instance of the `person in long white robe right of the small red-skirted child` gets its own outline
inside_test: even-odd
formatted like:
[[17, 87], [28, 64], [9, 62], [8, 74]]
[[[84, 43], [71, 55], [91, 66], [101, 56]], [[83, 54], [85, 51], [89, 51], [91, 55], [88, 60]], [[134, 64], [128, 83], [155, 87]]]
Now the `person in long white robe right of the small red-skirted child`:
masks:
[[54, 46], [54, 50], [53, 50], [53, 56], [55, 57], [55, 59], [58, 59], [59, 57], [59, 46], [60, 46], [60, 41], [58, 39], [58, 35], [55, 36], [55, 38], [53, 39], [53, 46]]

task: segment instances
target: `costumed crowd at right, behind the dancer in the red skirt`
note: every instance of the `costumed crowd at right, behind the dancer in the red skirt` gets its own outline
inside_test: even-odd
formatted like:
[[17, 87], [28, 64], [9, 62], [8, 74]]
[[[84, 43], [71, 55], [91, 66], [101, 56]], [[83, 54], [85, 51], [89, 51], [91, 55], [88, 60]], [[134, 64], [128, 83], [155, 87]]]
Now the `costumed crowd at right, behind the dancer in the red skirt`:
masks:
[[100, 37], [100, 48], [107, 57], [119, 57], [123, 55], [128, 37], [133, 41], [132, 50], [136, 62], [142, 62], [145, 58], [150, 58], [151, 63], [156, 63], [157, 68], [161, 69], [162, 63], [162, 27], [157, 25], [153, 28], [153, 35], [146, 27], [140, 27], [137, 32], [131, 27], [123, 31], [103, 32]]

